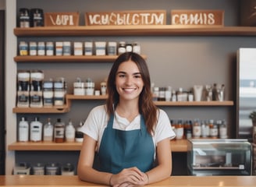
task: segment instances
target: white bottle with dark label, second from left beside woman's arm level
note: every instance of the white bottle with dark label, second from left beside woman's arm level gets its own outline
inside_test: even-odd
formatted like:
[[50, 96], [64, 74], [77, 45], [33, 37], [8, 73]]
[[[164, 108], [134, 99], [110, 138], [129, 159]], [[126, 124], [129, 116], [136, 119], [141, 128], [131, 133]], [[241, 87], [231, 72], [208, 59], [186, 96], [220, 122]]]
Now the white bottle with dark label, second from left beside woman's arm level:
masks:
[[42, 123], [39, 118], [34, 118], [34, 121], [30, 122], [30, 141], [40, 142], [42, 140]]

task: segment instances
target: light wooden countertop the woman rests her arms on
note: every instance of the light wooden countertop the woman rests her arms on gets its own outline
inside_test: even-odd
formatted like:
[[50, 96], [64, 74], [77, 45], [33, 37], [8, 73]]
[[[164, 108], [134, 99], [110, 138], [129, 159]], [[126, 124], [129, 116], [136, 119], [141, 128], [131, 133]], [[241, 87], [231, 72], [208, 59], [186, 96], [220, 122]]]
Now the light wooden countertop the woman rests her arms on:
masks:
[[[75, 176], [61, 175], [2, 175], [0, 186], [102, 186], [89, 182], [82, 182]], [[256, 176], [171, 176], [162, 182], [156, 182], [149, 186], [171, 187], [255, 187]]]

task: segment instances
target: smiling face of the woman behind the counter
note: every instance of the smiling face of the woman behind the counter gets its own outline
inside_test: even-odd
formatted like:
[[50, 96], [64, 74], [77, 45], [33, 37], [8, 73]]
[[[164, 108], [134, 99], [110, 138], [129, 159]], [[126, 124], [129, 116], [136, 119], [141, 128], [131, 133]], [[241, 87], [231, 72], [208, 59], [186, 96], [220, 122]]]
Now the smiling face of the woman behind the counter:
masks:
[[119, 65], [116, 72], [116, 90], [120, 100], [138, 100], [143, 86], [140, 70], [133, 61]]

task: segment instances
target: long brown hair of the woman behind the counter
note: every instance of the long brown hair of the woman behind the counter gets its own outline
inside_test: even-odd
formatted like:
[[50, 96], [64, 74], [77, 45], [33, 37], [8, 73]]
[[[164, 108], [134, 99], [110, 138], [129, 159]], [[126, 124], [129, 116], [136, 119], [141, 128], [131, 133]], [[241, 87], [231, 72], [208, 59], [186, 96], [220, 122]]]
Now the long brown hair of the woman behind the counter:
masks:
[[123, 53], [122, 55], [119, 55], [118, 58], [116, 58], [116, 61], [112, 65], [112, 69], [109, 72], [107, 82], [108, 99], [106, 105], [108, 116], [114, 114], [114, 108], [116, 108], [116, 105], [119, 103], [119, 94], [116, 90], [116, 72], [119, 69], [119, 65], [128, 60], [135, 62], [138, 66], [138, 69], [140, 70], [141, 77], [144, 83], [144, 88], [140, 93], [139, 111], [140, 115], [143, 115], [144, 117], [145, 125], [147, 126], [148, 132], [154, 133], [154, 125], [156, 125], [158, 121], [158, 108], [155, 106], [152, 98], [151, 79], [148, 71], [148, 65], [145, 62], [144, 58], [142, 58], [137, 53]]

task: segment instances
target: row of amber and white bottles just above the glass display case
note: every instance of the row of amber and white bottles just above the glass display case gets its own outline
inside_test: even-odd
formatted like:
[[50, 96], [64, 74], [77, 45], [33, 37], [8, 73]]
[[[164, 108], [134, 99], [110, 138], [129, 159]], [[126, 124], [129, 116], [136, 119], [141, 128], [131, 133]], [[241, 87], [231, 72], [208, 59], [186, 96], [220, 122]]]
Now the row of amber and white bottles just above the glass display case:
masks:
[[171, 120], [172, 129], [176, 132], [176, 139], [190, 138], [220, 138], [226, 139], [226, 120]]

